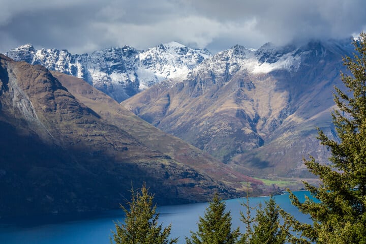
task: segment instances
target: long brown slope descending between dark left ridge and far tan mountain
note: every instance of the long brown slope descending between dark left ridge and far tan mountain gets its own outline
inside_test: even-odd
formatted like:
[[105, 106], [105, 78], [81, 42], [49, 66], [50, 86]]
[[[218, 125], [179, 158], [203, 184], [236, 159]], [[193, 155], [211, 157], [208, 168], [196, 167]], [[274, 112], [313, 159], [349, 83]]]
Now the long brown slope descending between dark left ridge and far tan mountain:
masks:
[[235, 189], [245, 191], [246, 186], [242, 185], [243, 181], [261, 185], [260, 181], [230, 170], [198, 148], [151, 126], [83, 80], [58, 72], [52, 72], [52, 74], [79, 101], [96, 111], [108, 123], [128, 131], [147, 147], [160, 151], [214, 179], [224, 181]]

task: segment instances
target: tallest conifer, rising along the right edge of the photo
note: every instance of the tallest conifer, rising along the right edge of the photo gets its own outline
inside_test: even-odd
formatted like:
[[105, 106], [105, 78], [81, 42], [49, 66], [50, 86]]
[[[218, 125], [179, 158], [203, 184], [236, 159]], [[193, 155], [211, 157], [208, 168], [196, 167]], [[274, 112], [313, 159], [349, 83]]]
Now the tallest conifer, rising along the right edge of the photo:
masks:
[[294, 222], [296, 229], [317, 243], [366, 243], [366, 34], [353, 44], [354, 57], [343, 59], [350, 75], [341, 74], [348, 90], [335, 87], [339, 110], [332, 112], [332, 121], [340, 141], [318, 129], [318, 139], [331, 152], [330, 164], [313, 157], [304, 161], [322, 181], [319, 187], [305, 182], [317, 201], [300, 203], [290, 193], [292, 203], [313, 220], [313, 225]]

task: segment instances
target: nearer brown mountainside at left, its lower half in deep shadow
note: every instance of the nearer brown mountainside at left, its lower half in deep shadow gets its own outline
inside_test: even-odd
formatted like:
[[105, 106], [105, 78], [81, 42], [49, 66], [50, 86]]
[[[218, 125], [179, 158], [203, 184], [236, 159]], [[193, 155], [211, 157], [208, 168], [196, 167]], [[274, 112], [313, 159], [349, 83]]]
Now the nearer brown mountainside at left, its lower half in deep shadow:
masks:
[[0, 216], [117, 208], [143, 181], [159, 204], [205, 201], [215, 189], [236, 197], [241, 182], [262, 184], [81, 79], [1, 54], [0, 134]]

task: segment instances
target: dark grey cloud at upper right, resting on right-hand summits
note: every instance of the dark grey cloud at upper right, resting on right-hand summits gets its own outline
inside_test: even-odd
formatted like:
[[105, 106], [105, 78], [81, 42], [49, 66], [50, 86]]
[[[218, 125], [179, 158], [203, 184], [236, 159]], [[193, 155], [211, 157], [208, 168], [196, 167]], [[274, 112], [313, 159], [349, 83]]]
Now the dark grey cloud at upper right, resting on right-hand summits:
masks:
[[[258, 41], [278, 44], [304, 38], [349, 37], [362, 31], [366, 24], [366, 9], [361, 0], [238, 0], [225, 5], [218, 0], [203, 0], [191, 1], [191, 6], [196, 12], [222, 22], [255, 19], [254, 31], [263, 37]], [[251, 34], [238, 36], [251, 42]]]

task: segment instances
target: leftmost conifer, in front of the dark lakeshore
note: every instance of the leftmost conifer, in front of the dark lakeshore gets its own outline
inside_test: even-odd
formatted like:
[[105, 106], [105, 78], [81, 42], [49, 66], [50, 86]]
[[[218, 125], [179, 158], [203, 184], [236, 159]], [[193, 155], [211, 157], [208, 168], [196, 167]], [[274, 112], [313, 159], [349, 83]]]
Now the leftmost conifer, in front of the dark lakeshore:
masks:
[[153, 206], [154, 195], [148, 193], [145, 184], [141, 191], [131, 189], [132, 200], [129, 208], [121, 205], [125, 212], [125, 222], [116, 222], [113, 241], [117, 244], [172, 244], [177, 239], [168, 239], [171, 225], [163, 228], [158, 225], [159, 213], [156, 213], [156, 205]]

